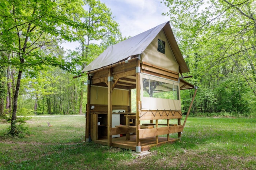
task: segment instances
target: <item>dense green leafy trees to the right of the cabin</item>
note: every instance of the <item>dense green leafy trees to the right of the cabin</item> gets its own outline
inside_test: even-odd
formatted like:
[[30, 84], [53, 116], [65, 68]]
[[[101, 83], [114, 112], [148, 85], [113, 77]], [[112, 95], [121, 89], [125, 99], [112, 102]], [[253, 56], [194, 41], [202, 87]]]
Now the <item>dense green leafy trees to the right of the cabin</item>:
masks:
[[255, 112], [255, 1], [163, 3], [170, 9], [164, 15], [170, 16], [174, 35], [193, 75], [189, 81], [199, 86], [193, 111], [225, 110], [244, 115]]

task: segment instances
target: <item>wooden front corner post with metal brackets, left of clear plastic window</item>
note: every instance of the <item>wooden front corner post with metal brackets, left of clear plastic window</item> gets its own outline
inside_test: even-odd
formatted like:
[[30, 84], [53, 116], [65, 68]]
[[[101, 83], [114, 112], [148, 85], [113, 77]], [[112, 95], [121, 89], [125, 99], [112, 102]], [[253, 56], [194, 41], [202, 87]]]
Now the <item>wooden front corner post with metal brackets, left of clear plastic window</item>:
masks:
[[140, 129], [140, 60], [136, 67], [136, 152], [141, 152], [139, 129]]

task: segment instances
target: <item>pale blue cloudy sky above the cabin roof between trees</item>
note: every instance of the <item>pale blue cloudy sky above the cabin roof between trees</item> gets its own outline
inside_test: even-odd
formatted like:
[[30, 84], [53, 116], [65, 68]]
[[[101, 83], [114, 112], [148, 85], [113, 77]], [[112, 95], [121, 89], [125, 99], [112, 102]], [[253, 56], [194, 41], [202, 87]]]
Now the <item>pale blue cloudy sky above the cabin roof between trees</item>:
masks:
[[[169, 20], [162, 16], [168, 8], [161, 0], [100, 0], [112, 11], [123, 37], [135, 36]], [[75, 50], [79, 43], [63, 43], [65, 49]]]

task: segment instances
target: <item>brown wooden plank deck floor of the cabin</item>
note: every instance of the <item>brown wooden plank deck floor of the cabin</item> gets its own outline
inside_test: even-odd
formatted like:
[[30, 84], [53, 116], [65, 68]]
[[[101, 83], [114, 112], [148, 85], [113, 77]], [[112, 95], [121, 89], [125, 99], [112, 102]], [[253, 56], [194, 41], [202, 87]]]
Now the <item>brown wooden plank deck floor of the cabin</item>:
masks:
[[[167, 141], [166, 137], [158, 137], [158, 144], [156, 144], [155, 137], [143, 138], [140, 140], [141, 151], [147, 151], [150, 150], [150, 148], [153, 146], [161, 145], [163, 143], [173, 143], [179, 140], [180, 139], [178, 138], [170, 138], [170, 140]], [[102, 145], [108, 145], [108, 139], [99, 139], [94, 142]], [[112, 138], [112, 146], [136, 151], [136, 135], [130, 135], [130, 140], [126, 140], [125, 136]]]

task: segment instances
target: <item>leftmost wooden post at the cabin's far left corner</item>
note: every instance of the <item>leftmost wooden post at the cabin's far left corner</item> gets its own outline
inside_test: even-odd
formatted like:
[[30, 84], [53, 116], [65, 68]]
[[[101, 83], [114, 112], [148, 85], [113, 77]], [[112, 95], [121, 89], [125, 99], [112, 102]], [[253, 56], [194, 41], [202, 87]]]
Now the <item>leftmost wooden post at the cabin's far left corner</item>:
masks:
[[86, 125], [85, 125], [85, 141], [90, 142], [90, 114], [91, 114], [91, 83], [90, 83], [90, 76], [88, 75], [88, 82], [87, 82], [87, 108], [86, 108]]

